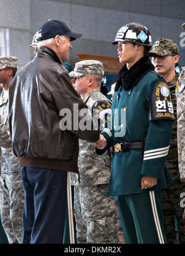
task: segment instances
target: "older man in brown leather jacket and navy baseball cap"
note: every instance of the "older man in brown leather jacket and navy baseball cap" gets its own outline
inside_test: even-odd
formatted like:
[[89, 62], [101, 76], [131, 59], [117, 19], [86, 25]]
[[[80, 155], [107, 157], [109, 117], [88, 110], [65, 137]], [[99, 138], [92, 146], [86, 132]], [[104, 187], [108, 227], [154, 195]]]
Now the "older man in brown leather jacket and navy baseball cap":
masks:
[[[88, 114], [74, 115], [76, 106], [79, 112], [88, 108], [62, 64], [71, 41], [80, 36], [60, 20], [44, 23], [35, 59], [10, 85], [12, 147], [20, 158], [25, 188], [22, 243], [62, 243], [67, 171], [78, 172], [78, 138], [99, 141], [100, 147], [105, 143], [98, 130], [75, 125], [83, 118], [93, 125]], [[71, 126], [62, 122], [64, 110]]]

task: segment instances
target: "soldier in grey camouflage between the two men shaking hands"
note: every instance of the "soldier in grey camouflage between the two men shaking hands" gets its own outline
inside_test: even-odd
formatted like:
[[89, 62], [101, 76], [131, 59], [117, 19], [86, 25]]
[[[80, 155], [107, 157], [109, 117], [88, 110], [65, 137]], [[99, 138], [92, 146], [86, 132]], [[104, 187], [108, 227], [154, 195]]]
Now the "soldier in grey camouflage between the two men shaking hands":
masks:
[[[81, 95], [94, 123], [103, 128], [110, 117], [112, 102], [101, 91], [104, 75], [102, 62], [77, 62], [72, 77], [73, 87]], [[97, 127], [97, 126], [96, 126]], [[79, 175], [70, 173], [74, 186], [74, 209], [78, 243], [118, 243], [117, 203], [107, 197], [110, 180], [110, 155], [99, 156], [86, 141], [79, 141]]]

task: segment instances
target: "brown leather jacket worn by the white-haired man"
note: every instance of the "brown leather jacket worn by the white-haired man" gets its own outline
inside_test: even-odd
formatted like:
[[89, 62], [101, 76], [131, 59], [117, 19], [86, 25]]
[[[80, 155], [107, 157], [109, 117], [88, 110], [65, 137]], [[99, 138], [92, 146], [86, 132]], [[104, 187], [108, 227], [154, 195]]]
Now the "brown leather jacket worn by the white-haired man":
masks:
[[69, 109], [73, 118], [73, 104], [88, 109], [57, 54], [40, 47], [9, 86], [9, 128], [20, 166], [78, 171], [78, 138], [95, 142], [100, 131], [74, 130], [73, 122], [71, 130], [60, 130], [59, 112]]

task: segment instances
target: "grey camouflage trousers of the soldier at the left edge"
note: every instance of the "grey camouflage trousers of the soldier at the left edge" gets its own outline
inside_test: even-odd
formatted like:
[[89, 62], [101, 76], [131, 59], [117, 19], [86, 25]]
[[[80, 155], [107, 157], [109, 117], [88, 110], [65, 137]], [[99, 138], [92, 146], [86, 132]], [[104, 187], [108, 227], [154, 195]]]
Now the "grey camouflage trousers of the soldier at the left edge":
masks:
[[1, 222], [9, 244], [20, 243], [24, 204], [24, 191], [20, 172], [1, 173], [0, 196]]

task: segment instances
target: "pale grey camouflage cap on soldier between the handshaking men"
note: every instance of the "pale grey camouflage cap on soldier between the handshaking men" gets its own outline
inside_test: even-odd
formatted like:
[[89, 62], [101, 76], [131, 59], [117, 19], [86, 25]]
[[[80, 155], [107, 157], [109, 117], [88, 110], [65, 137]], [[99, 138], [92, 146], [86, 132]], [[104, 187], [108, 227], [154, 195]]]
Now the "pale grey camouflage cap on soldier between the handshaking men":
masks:
[[76, 62], [74, 71], [70, 72], [71, 77], [83, 75], [104, 75], [104, 66], [98, 60], [81, 60]]

